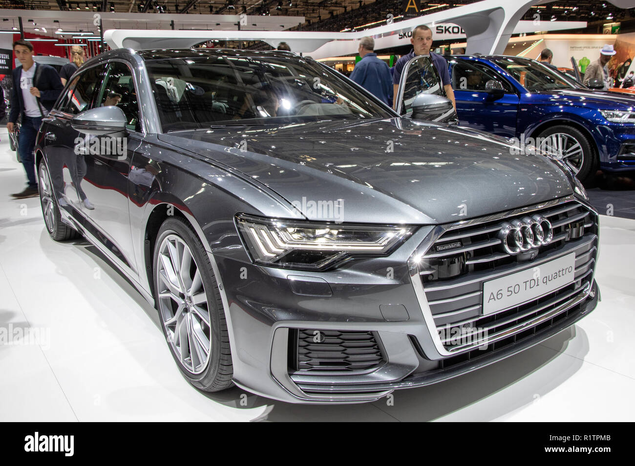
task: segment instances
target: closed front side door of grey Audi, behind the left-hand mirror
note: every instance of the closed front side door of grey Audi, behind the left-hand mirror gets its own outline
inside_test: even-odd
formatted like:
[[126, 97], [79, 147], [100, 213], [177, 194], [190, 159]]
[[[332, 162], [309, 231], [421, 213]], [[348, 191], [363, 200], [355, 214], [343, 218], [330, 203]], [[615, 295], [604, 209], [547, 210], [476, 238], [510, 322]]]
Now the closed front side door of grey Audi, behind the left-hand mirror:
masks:
[[123, 133], [83, 135], [82, 152], [86, 183], [82, 184], [81, 208], [97, 228], [109, 252], [133, 275], [137, 275], [130, 231], [128, 176], [131, 160], [143, 140], [137, 100], [137, 84], [130, 65], [110, 61], [95, 98], [95, 107], [121, 108], [128, 124]]

